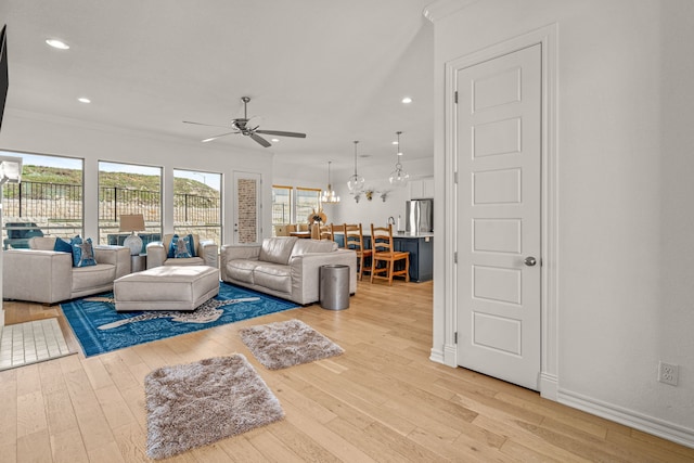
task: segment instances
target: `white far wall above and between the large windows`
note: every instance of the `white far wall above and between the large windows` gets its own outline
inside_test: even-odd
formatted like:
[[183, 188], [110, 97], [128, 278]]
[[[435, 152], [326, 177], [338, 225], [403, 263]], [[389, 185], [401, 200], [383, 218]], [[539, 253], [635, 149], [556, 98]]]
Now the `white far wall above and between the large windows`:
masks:
[[5, 108], [0, 149], [37, 154], [52, 154], [85, 159], [85, 235], [98, 235], [99, 160], [164, 167], [164, 232], [174, 230], [174, 168], [220, 172], [223, 175], [223, 235], [231, 242], [233, 220], [233, 171], [258, 172], [264, 179], [264, 233], [271, 223], [272, 154], [258, 150], [221, 147], [149, 133], [118, 130], [83, 121], [37, 115]]

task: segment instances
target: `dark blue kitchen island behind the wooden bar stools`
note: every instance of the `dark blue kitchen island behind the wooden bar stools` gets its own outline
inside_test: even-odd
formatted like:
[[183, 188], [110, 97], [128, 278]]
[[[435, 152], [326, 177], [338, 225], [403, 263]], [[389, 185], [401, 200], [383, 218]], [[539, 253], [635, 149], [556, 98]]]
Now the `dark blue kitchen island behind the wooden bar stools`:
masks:
[[[364, 234], [364, 247], [371, 248], [371, 235]], [[339, 247], [345, 245], [342, 233], [335, 233], [335, 242]], [[424, 282], [434, 278], [434, 233], [393, 233], [393, 246], [395, 250], [410, 253], [410, 281]], [[396, 262], [402, 268], [403, 262]]]

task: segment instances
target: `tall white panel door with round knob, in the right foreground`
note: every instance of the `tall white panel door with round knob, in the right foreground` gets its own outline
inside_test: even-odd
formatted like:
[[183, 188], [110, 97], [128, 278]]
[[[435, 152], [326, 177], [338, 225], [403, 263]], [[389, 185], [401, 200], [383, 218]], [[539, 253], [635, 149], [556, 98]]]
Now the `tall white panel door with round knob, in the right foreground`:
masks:
[[540, 47], [457, 72], [459, 364], [534, 390], [541, 338]]

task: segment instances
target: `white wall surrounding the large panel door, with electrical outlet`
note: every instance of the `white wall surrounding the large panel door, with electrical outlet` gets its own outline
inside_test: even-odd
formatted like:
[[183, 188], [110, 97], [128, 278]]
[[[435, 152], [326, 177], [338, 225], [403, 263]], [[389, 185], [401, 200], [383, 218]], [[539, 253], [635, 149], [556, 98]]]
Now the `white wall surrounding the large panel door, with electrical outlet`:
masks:
[[[693, 3], [485, 0], [437, 20], [435, 175], [445, 178], [445, 63], [555, 23], [560, 400], [694, 446]], [[445, 185], [436, 192], [442, 204]], [[680, 364], [678, 387], [656, 381], [659, 359]]]

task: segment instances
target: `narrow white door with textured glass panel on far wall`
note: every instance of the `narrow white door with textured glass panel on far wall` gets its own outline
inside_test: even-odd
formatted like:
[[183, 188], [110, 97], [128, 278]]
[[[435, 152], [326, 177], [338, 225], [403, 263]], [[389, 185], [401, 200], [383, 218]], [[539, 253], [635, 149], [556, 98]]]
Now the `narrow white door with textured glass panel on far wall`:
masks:
[[234, 172], [234, 244], [260, 242], [260, 173]]

